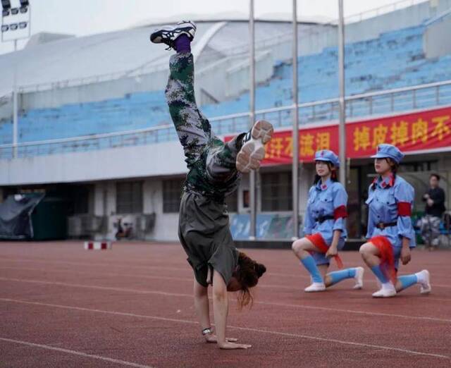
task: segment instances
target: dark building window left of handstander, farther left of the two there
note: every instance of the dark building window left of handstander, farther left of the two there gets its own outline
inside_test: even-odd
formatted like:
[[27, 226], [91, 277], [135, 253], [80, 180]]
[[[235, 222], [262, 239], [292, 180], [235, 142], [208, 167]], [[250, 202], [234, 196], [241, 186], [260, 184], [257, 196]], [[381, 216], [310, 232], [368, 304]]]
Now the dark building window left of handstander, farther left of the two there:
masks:
[[142, 213], [142, 181], [116, 183], [116, 213]]

